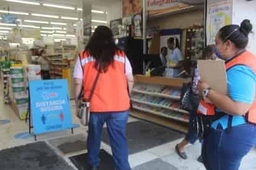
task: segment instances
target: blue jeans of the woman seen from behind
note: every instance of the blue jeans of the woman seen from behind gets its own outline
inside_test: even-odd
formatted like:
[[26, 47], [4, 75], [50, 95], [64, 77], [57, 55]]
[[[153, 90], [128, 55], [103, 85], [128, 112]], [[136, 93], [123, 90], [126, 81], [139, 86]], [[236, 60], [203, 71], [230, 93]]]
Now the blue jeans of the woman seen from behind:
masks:
[[116, 170], [130, 170], [126, 141], [126, 124], [128, 117], [129, 111], [90, 114], [87, 140], [87, 161], [90, 166], [99, 166], [101, 134], [103, 125], [106, 122]]

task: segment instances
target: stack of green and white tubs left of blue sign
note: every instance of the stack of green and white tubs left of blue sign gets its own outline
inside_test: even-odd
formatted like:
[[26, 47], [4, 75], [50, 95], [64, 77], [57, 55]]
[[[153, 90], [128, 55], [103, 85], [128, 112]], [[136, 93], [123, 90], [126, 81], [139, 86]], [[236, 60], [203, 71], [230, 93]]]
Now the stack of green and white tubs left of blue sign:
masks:
[[13, 104], [16, 105], [16, 114], [23, 120], [29, 109], [29, 96], [25, 86], [24, 69], [21, 66], [12, 66], [10, 68], [10, 76], [10, 98]]

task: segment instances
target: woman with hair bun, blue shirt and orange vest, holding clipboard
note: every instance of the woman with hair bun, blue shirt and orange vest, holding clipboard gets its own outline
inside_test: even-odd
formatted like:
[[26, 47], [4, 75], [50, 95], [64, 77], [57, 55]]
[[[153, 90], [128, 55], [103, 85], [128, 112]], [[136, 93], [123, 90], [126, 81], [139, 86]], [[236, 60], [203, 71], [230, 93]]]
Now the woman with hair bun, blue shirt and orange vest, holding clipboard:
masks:
[[208, 170], [237, 170], [256, 143], [256, 56], [245, 50], [252, 32], [250, 20], [222, 27], [216, 35], [216, 54], [226, 62], [229, 94], [220, 94], [198, 82], [199, 114], [219, 118], [209, 125], [204, 137], [203, 162]]

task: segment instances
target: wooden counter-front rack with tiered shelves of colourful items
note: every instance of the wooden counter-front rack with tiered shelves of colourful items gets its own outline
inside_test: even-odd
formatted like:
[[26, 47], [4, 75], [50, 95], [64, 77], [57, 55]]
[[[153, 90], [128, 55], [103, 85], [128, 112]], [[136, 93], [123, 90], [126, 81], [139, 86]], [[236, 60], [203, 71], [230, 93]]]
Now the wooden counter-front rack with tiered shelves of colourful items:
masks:
[[[190, 79], [135, 76], [130, 115], [186, 132], [189, 113], [179, 108], [180, 88]], [[165, 119], [165, 120], [163, 120]], [[162, 121], [168, 123], [161, 123]]]

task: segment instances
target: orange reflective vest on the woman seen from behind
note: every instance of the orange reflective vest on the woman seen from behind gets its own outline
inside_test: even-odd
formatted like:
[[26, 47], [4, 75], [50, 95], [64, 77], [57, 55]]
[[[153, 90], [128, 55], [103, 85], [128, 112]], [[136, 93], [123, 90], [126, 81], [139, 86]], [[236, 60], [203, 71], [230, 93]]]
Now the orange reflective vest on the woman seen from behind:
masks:
[[[94, 79], [98, 73], [95, 69], [95, 58], [88, 52], [81, 52], [81, 64], [83, 65], [83, 89], [85, 101], [89, 99], [89, 93], [93, 87]], [[90, 112], [122, 112], [129, 110], [130, 99], [127, 90], [125, 75], [124, 51], [117, 50], [114, 62], [109, 65], [106, 73], [99, 75], [93, 97], [90, 102]]]

